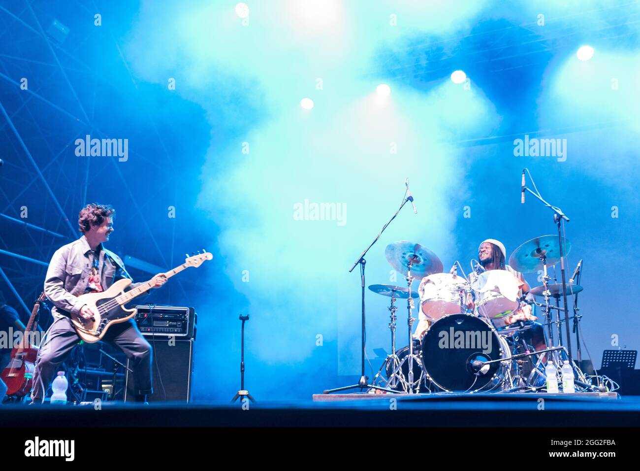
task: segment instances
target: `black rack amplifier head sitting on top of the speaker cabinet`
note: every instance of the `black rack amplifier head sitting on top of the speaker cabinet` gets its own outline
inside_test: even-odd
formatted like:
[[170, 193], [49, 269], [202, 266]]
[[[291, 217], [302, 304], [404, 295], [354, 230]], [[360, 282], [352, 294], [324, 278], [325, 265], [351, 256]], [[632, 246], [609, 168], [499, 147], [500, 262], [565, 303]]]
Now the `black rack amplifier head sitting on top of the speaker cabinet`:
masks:
[[198, 314], [193, 308], [152, 304], [135, 307], [138, 310], [136, 324], [145, 337], [154, 335], [195, 339]]

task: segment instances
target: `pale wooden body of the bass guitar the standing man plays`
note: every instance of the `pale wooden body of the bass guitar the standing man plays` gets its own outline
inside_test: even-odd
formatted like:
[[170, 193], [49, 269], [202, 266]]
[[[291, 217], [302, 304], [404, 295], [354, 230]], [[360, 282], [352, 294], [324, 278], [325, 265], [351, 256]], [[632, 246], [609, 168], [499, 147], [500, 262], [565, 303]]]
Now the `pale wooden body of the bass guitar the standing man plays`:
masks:
[[[95, 343], [102, 340], [107, 333], [107, 329], [112, 324], [127, 322], [136, 315], [136, 309], [125, 309], [115, 301], [115, 297], [121, 295], [127, 286], [131, 285], [131, 280], [120, 279], [109, 286], [109, 289], [101, 293], [87, 293], [78, 297], [90, 310], [93, 311], [93, 319], [84, 319], [80, 314], [72, 314], [71, 322], [76, 328], [77, 335], [84, 342]], [[111, 306], [111, 308], [109, 308]], [[100, 313], [99, 311], [104, 311]]]

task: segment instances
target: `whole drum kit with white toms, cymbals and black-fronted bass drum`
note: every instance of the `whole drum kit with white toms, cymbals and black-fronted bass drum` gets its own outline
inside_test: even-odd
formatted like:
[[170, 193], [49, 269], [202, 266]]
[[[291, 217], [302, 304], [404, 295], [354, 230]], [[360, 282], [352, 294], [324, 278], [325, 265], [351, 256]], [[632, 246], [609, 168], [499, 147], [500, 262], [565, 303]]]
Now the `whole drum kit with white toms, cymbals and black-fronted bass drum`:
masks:
[[[564, 254], [571, 245], [564, 241]], [[569, 359], [563, 347], [561, 325], [564, 319], [559, 306], [563, 295], [561, 284], [549, 283], [548, 267], [561, 260], [556, 236], [541, 236], [520, 245], [509, 258], [509, 266], [523, 273], [541, 270], [543, 285], [523, 296], [521, 281], [513, 270], [484, 270], [472, 262], [467, 277], [458, 275], [456, 261], [451, 272], [436, 254], [423, 245], [406, 240], [394, 242], [385, 250], [388, 263], [405, 274], [406, 287], [371, 285], [369, 290], [390, 298], [390, 343], [370, 392], [398, 393], [449, 392], [513, 392], [543, 389], [543, 359], [561, 367]], [[460, 267], [461, 269], [461, 267]], [[566, 285], [568, 295], [582, 291], [582, 286]], [[412, 289], [419, 282], [417, 292]], [[543, 299], [537, 302], [534, 297]], [[408, 345], [396, 348], [397, 301], [406, 299]], [[420, 324], [413, 332], [412, 310], [419, 299]], [[556, 300], [552, 305], [551, 300]], [[536, 351], [525, 335], [535, 326], [536, 317], [522, 316], [540, 308], [547, 327], [547, 347]], [[554, 317], [554, 311], [557, 313]], [[519, 315], [519, 316], [518, 316]], [[579, 320], [577, 309], [575, 321]], [[518, 320], [514, 320], [518, 319]], [[424, 327], [426, 321], [426, 329]], [[574, 321], [574, 322], [575, 322]], [[554, 335], [554, 327], [555, 334]], [[540, 327], [538, 327], [540, 328]], [[422, 330], [422, 331], [420, 331]], [[544, 334], [542, 334], [544, 336]], [[557, 339], [557, 340], [554, 340]], [[573, 363], [577, 384], [589, 386], [584, 374]]]

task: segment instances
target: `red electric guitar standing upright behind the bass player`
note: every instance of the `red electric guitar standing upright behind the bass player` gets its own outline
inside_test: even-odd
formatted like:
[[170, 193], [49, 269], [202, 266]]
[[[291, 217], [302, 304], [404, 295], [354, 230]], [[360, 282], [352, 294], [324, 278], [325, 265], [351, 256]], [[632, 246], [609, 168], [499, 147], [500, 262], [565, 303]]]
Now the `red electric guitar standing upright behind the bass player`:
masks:
[[[40, 302], [43, 302], [47, 297], [44, 292], [40, 294], [36, 301], [33, 310], [31, 311], [31, 317], [29, 317], [29, 323], [27, 329], [24, 331], [24, 336], [20, 344], [15, 347], [11, 352], [11, 361], [4, 368], [0, 377], [2, 377], [4, 383], [6, 383], [6, 395], [24, 397], [31, 392], [33, 388], [33, 372], [35, 370], [36, 356], [38, 356], [38, 347], [31, 345], [29, 340], [32, 338], [28, 335], [29, 332], [35, 332], [38, 329], [38, 309], [40, 308]], [[12, 341], [12, 339], [10, 339]]]

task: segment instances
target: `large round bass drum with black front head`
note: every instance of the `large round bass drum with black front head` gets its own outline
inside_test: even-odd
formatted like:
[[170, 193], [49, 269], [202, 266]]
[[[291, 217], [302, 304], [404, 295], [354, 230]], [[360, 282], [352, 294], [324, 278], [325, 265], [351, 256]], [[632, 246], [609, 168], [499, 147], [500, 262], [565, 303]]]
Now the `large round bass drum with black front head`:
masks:
[[508, 375], [508, 362], [490, 363], [484, 367], [481, 362], [508, 355], [509, 346], [495, 328], [468, 314], [452, 314], [436, 320], [422, 338], [426, 376], [446, 392], [502, 390]]

